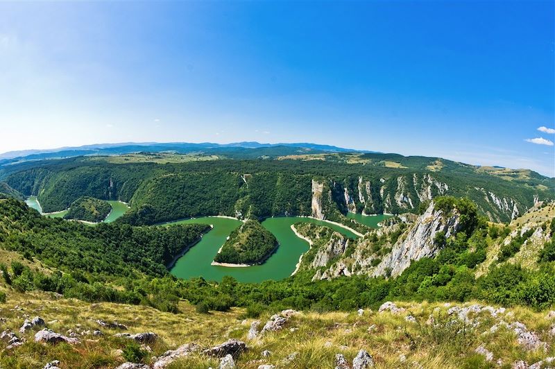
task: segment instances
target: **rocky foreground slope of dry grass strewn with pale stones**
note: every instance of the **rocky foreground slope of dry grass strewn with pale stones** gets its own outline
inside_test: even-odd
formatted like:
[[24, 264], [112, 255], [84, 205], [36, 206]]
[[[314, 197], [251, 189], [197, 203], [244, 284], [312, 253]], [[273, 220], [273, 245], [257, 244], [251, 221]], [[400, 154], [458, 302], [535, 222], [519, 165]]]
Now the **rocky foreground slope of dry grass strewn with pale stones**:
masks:
[[386, 302], [350, 313], [182, 314], [46, 293], [0, 307], [2, 368], [549, 368], [555, 311]]

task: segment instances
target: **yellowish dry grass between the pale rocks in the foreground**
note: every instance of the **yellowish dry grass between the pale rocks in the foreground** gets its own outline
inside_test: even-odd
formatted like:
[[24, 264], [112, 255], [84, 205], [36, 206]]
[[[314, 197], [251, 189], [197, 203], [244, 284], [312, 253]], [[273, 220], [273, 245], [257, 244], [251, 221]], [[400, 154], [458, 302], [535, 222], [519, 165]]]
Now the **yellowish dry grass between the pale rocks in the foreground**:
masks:
[[[82, 336], [81, 343], [75, 346], [28, 342], [16, 350], [0, 354], [0, 366], [3, 368], [42, 368], [53, 359], [60, 360], [62, 368], [114, 368], [124, 361], [116, 350], [123, 349], [128, 341], [114, 338], [113, 334], [118, 331], [103, 329], [94, 323], [94, 319], [99, 318], [123, 323], [128, 326], [130, 333], [151, 331], [158, 334], [160, 339], [151, 345], [151, 356], [184, 343], [194, 342], [202, 347], [210, 347], [228, 338], [246, 341], [248, 328], [253, 321], [241, 321], [242, 309], [198, 314], [187, 302], [180, 303], [180, 314], [169, 314], [150, 307], [107, 302], [89, 304], [58, 298], [50, 293], [7, 292], [8, 302], [0, 304], [0, 316], [5, 318], [0, 323], [2, 330], [12, 329], [17, 332], [25, 318], [41, 316], [55, 332], [65, 334], [68, 329], [74, 332], [101, 329], [104, 336]], [[21, 310], [14, 309], [16, 305]], [[475, 334], [464, 343], [455, 345], [452, 340], [442, 339], [442, 334], [456, 333], [452, 329], [447, 333], [443, 330], [434, 331], [435, 328], [425, 324], [436, 307], [445, 314], [447, 307], [443, 304], [422, 302], [398, 305], [407, 311], [398, 315], [367, 310], [362, 316], [356, 312], [305, 312], [293, 316], [282, 331], [248, 341], [249, 350], [237, 359], [237, 366], [255, 369], [262, 363], [271, 363], [278, 368], [334, 368], [335, 354], [342, 353], [351, 361], [359, 350], [364, 349], [373, 356], [377, 368], [413, 368], [416, 365], [423, 368], [486, 368], [488, 364], [484, 358], [473, 352], [480, 344], [493, 352], [495, 360], [502, 359], [504, 363], [512, 363], [517, 359], [533, 363], [555, 354], [552, 348], [547, 352], [526, 352], [518, 346], [514, 334], [504, 329], [493, 335], [482, 334], [497, 321], [487, 314], [481, 318], [483, 323], [477, 327]], [[545, 319], [545, 313], [522, 307], [511, 309], [511, 312], [514, 314], [513, 320], [519, 320], [538, 332], [544, 341], [553, 346], [552, 337], [547, 334], [552, 322]], [[409, 323], [404, 319], [409, 313], [416, 317], [418, 323]], [[262, 324], [269, 315], [259, 318]], [[369, 327], [374, 328], [369, 331]], [[31, 332], [24, 336], [32, 341], [33, 334]], [[0, 345], [5, 347], [6, 344]], [[271, 351], [271, 356], [262, 357], [263, 350]], [[286, 362], [293, 352], [298, 354]], [[210, 366], [216, 368], [218, 360], [203, 354], [191, 354], [186, 359], [174, 362], [170, 368], [205, 369]]]

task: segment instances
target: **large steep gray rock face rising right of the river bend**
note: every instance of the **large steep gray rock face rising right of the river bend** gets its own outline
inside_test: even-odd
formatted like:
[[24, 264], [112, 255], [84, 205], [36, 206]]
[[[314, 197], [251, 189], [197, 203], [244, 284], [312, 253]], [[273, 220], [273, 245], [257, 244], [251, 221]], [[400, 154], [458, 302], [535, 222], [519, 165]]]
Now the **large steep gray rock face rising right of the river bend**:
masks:
[[440, 210], [434, 209], [432, 202], [416, 221], [413, 228], [409, 230], [405, 239], [397, 241], [393, 250], [384, 257], [373, 270], [372, 275], [400, 275], [402, 271], [411, 265], [411, 261], [422, 259], [422, 257], [434, 257], [440, 250], [434, 244], [437, 232], [445, 232], [445, 237], [459, 229], [459, 214], [454, 210], [450, 216], [445, 216]]

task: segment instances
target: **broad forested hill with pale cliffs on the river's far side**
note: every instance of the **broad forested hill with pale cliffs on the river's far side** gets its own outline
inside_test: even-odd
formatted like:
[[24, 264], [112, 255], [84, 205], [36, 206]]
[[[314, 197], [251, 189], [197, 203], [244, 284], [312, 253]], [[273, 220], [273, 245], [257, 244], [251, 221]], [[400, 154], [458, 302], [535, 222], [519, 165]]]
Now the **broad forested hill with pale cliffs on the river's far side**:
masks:
[[[253, 148], [248, 157], [151, 153], [75, 157], [4, 166], [3, 180], [37, 195], [44, 212], [82, 196], [130, 203], [122, 221], [303, 215], [345, 223], [347, 212], [418, 212], [435, 196], [468, 197], [492, 221], [510, 221], [555, 197], [555, 179], [439, 158], [377, 153], [290, 153]], [[274, 156], [265, 155], [268, 150]], [[286, 155], [278, 155], [285, 153]]]

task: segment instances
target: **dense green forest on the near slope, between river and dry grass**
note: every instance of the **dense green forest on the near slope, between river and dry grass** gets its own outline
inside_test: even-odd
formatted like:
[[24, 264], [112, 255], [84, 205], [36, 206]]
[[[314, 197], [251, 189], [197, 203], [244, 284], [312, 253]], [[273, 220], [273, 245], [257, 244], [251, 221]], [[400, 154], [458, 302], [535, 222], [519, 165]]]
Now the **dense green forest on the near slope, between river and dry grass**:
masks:
[[[439, 201], [450, 209], [452, 200]], [[395, 278], [353, 276], [311, 281], [300, 271], [282, 281], [242, 284], [230, 277], [221, 283], [202, 278], [178, 280], [164, 268], [180, 250], [194, 243], [205, 225], [133, 227], [80, 223], [40, 216], [17, 200], [0, 201], [0, 243], [24, 257], [38, 259], [64, 274], [45, 274], [20, 266], [1, 266], [15, 288], [58, 291], [87, 301], [147, 303], [164, 311], [177, 311], [177, 301], [187, 299], [203, 308], [226, 310], [248, 307], [294, 308], [316, 311], [376, 307], [384, 300], [483, 300], [505, 306], [525, 304], [545, 308], [555, 303], [553, 243], [530, 271], [518, 264], [495, 264], [487, 274], [475, 277], [474, 268], [484, 260], [492, 239], [503, 230], [478, 216], [475, 205], [462, 211], [463, 228], [456, 236], [438, 237], [441, 252], [433, 258], [413, 261]], [[466, 218], [465, 218], [466, 217]], [[545, 224], [552, 237], [555, 221]], [[103, 281], [103, 282], [102, 282]]]

